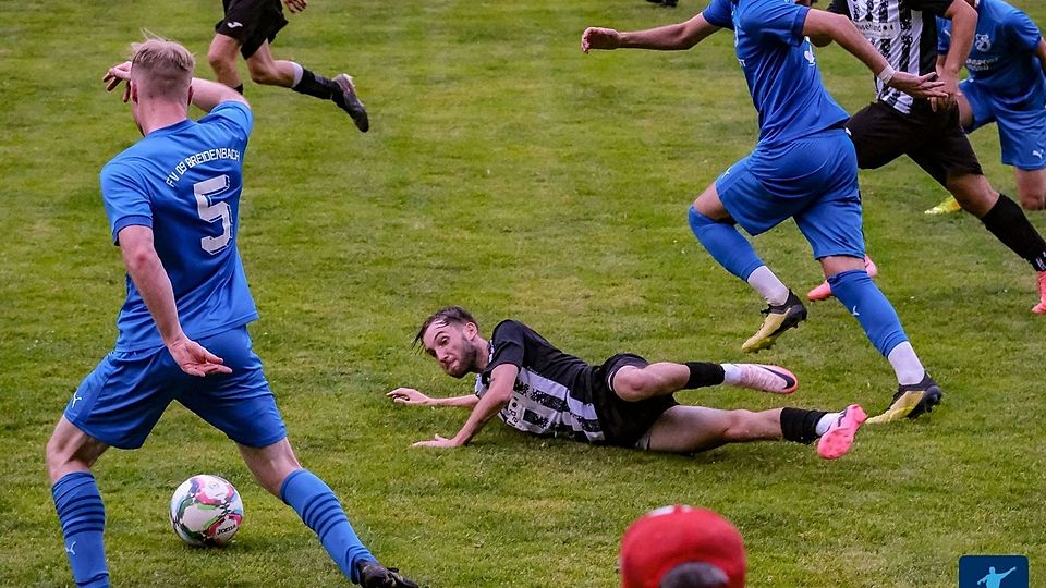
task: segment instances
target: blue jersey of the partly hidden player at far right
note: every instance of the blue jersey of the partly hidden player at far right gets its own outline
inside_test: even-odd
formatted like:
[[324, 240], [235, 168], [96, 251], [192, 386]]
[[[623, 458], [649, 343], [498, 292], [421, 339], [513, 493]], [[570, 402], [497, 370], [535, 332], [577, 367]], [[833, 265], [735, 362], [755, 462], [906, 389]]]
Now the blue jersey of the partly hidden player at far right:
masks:
[[[951, 21], [937, 20], [940, 36], [937, 51], [947, 53], [951, 44]], [[1042, 108], [1046, 78], [1035, 57], [1042, 35], [1035, 23], [1002, 0], [981, 0], [977, 30], [966, 70], [970, 79], [1001, 98], [1010, 107]]]

